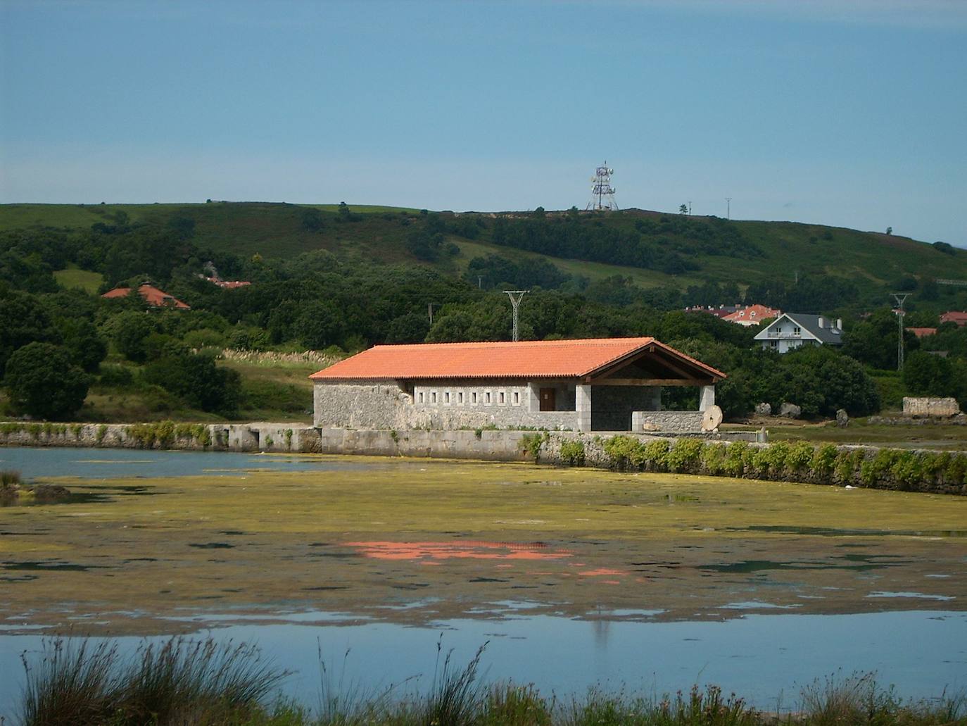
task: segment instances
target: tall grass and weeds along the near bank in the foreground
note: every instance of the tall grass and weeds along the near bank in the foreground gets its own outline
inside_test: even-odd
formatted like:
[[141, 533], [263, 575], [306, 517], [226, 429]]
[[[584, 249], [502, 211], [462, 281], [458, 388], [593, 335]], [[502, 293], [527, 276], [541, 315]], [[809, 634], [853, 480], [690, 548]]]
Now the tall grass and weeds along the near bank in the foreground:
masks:
[[369, 693], [358, 681], [345, 681], [345, 658], [338, 678], [320, 658], [319, 708], [312, 712], [296, 702], [270, 703], [286, 674], [251, 646], [173, 638], [146, 644], [124, 660], [109, 642], [53, 639], [44, 645], [39, 663], [24, 658], [24, 726], [967, 726], [963, 694], [904, 701], [863, 673], [814, 681], [794, 713], [756, 711], [715, 685], [660, 699], [595, 687], [559, 702], [533, 685], [485, 685], [480, 666], [486, 644], [457, 666], [453, 650], [444, 654], [439, 641], [423, 692], [397, 694], [391, 685]]

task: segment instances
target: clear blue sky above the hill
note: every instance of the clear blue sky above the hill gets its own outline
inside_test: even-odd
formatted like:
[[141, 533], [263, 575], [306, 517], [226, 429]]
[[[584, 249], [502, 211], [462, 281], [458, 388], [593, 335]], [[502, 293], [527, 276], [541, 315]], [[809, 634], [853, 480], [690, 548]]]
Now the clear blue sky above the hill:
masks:
[[620, 206], [967, 246], [967, 2], [0, 0], [0, 201]]

